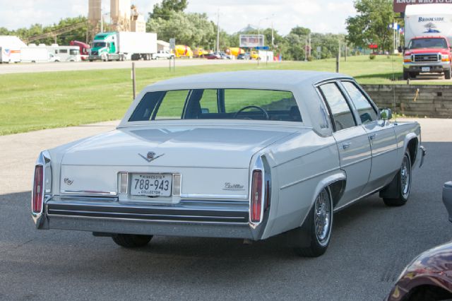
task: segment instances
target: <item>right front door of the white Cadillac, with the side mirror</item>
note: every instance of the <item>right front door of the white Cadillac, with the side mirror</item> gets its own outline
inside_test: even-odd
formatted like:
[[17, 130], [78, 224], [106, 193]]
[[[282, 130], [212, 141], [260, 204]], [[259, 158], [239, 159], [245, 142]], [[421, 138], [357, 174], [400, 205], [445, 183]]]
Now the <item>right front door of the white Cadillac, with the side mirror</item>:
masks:
[[391, 182], [391, 175], [398, 169], [396, 131], [394, 124], [379, 120], [376, 106], [357, 83], [352, 81], [341, 83], [369, 136], [372, 154], [371, 172], [369, 184], [363, 191], [369, 193]]

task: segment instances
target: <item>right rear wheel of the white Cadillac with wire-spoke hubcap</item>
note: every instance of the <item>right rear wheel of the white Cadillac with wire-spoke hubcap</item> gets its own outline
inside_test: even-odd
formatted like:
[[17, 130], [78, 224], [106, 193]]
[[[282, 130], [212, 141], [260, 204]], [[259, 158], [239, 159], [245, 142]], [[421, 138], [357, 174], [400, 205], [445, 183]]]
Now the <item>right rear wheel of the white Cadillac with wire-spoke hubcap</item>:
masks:
[[330, 191], [323, 188], [309, 211], [309, 216], [299, 229], [306, 233], [309, 242], [300, 242], [303, 247], [295, 247], [299, 256], [318, 257], [326, 252], [333, 227], [333, 199]]

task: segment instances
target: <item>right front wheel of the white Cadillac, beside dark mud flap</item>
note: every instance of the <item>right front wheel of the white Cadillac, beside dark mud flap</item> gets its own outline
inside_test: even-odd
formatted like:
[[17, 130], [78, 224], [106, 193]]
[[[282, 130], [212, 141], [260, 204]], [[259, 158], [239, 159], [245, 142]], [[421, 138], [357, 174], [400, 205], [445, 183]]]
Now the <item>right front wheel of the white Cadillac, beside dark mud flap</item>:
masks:
[[386, 206], [403, 206], [408, 201], [411, 190], [411, 158], [408, 151], [405, 151], [402, 166], [400, 166], [400, 170], [398, 171], [393, 181], [396, 181], [394, 183], [394, 187], [396, 187], [397, 189], [396, 197], [383, 198], [383, 202], [386, 204]]

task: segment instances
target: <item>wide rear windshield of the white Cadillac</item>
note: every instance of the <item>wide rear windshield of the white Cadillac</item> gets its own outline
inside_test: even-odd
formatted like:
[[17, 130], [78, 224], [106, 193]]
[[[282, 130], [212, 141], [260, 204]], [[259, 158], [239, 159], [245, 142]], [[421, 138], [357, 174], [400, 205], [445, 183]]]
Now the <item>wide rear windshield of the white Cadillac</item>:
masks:
[[301, 122], [288, 91], [251, 89], [169, 90], [146, 93], [129, 122], [161, 119], [256, 119]]

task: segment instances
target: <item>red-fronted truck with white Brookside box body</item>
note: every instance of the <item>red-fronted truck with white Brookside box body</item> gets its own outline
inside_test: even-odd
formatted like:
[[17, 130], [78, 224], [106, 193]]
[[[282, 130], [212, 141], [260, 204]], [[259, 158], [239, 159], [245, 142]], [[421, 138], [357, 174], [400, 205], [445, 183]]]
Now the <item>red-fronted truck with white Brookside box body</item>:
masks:
[[408, 5], [405, 10], [403, 78], [444, 73], [451, 79], [452, 4]]

